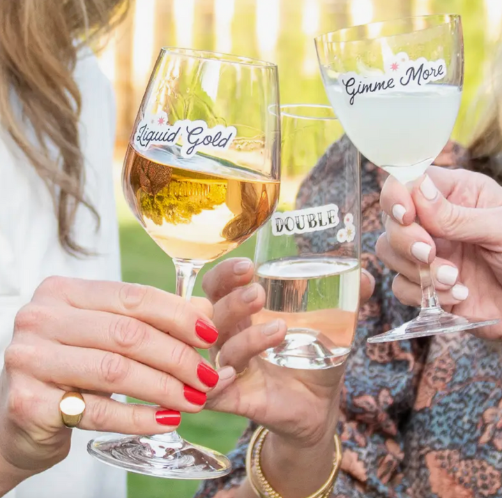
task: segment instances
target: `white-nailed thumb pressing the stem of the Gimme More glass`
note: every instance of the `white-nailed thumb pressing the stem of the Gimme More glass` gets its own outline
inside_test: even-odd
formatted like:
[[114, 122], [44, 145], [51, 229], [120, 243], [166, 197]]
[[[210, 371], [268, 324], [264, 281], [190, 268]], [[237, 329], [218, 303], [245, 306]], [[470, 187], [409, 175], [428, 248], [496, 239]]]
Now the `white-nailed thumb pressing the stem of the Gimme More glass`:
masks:
[[411, 193], [420, 225], [433, 237], [468, 242], [492, 249], [502, 247], [502, 208], [482, 209], [450, 203], [428, 175]]

